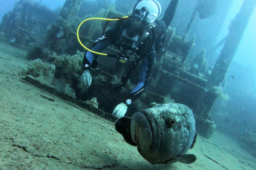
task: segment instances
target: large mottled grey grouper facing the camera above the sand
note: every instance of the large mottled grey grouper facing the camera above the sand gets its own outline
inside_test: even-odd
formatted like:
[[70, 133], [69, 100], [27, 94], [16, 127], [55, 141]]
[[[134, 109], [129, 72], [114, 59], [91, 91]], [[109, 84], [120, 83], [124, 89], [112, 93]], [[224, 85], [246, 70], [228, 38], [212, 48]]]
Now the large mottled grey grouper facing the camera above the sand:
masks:
[[191, 109], [178, 103], [156, 104], [130, 117], [116, 120], [116, 131], [137, 146], [140, 155], [152, 164], [193, 163], [186, 154], [196, 142], [195, 118]]

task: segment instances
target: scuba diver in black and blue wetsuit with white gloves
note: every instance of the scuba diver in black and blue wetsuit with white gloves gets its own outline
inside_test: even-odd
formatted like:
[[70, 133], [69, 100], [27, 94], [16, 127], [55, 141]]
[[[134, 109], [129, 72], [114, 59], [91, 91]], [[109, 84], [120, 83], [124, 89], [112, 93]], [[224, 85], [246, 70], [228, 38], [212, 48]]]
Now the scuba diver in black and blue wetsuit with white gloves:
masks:
[[[119, 19], [113, 29], [106, 31], [91, 46], [90, 50], [101, 52], [109, 45], [114, 44], [120, 51], [117, 55], [120, 63], [126, 63], [130, 55], [135, 56], [121, 78], [122, 84], [120, 87], [129, 80], [137, 65], [142, 61], [138, 84], [126, 96], [126, 99], [115, 107], [113, 115], [123, 117], [127, 108], [145, 91], [151, 78], [156, 53], [164, 51], [165, 31], [174, 18], [178, 2], [179, 0], [172, 0], [163, 18], [158, 20], [161, 15], [160, 4], [155, 0], [138, 0], [132, 15]], [[96, 55], [90, 51], [84, 54], [83, 71], [79, 81], [87, 87], [92, 82], [90, 69], [97, 67], [95, 66], [97, 65], [95, 64], [95, 57]]]

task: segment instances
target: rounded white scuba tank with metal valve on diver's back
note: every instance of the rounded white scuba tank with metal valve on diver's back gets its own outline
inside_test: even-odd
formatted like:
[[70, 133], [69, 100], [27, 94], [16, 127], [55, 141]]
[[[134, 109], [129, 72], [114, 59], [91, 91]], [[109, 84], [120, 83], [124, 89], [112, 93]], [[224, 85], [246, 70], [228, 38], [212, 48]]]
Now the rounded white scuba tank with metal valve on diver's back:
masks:
[[158, 1], [142, 0], [134, 7], [133, 15], [146, 23], [153, 24], [161, 15], [162, 8]]

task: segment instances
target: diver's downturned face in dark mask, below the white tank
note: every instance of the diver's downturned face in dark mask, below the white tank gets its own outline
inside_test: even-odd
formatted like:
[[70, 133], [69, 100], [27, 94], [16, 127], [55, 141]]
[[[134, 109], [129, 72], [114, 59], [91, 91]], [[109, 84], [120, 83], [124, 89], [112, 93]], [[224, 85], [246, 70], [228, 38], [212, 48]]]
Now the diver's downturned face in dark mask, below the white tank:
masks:
[[119, 39], [121, 51], [128, 54], [128, 53], [131, 53], [132, 51], [137, 50], [138, 40], [139, 40], [139, 35], [130, 37], [126, 34], [126, 30], [124, 29]]

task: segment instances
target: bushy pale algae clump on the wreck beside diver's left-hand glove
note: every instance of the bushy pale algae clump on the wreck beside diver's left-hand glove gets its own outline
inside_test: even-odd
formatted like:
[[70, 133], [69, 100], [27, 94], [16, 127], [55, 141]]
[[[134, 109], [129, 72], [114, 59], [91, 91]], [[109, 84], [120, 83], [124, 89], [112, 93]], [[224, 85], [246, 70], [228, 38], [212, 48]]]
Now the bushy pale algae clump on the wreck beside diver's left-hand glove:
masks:
[[46, 84], [76, 98], [75, 91], [71, 87], [79, 79], [84, 53], [79, 51], [75, 55], [61, 55], [56, 53], [49, 56], [48, 61], [35, 59], [23, 69], [22, 76], [31, 75], [42, 84]]

